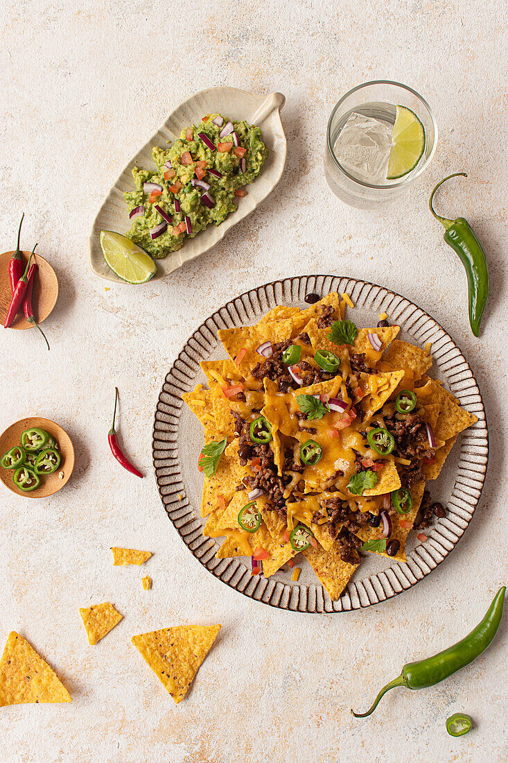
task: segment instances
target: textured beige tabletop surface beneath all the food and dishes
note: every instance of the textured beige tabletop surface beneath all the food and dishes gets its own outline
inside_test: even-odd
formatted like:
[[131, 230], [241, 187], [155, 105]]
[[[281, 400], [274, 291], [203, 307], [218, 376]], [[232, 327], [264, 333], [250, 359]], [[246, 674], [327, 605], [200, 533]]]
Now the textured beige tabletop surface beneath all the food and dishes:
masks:
[[[411, 658], [461, 637], [506, 583], [506, 5], [486, 2], [169, 4], [2, 2], [0, 240], [38, 240], [60, 299], [35, 331], [1, 333], [0, 427], [54, 418], [76, 443], [60, 494], [2, 489], [0, 641], [23, 633], [74, 697], [0, 711], [0, 759], [18, 761], [506, 761], [506, 630], [438, 687], [388, 695], [371, 720], [349, 715]], [[326, 118], [350, 87], [398, 79], [428, 98], [436, 158], [392, 211], [346, 208], [323, 180]], [[166, 114], [207, 85], [281, 90], [285, 175], [255, 214], [202, 259], [143, 288], [88, 271], [87, 237], [110, 185]], [[439, 209], [484, 241], [492, 289], [484, 333], [467, 329], [465, 276], [426, 202], [448, 172], [468, 181]], [[192, 559], [162, 509], [150, 438], [162, 379], [187, 336], [232, 295], [284, 275], [368, 278], [418, 302], [458, 341], [487, 404], [491, 460], [477, 514], [451, 557], [416, 588], [371, 609], [311, 617], [236, 594]], [[121, 389], [130, 477], [108, 451]], [[109, 546], [153, 551], [113, 568]], [[153, 576], [143, 591], [142, 575]], [[124, 620], [88, 645], [79, 607], [111, 600]], [[178, 707], [130, 645], [174, 623], [223, 623]], [[503, 701], [505, 702], [503, 705]], [[452, 739], [445, 718], [474, 717]], [[506, 716], [505, 716], [506, 721]]]

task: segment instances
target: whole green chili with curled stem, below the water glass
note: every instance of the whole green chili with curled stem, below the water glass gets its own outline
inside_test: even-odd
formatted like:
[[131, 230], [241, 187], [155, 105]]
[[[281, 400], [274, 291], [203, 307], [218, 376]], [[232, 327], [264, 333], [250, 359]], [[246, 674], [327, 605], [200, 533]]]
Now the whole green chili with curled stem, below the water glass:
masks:
[[432, 207], [432, 199], [440, 185], [450, 178], [459, 175], [467, 178], [465, 172], [454, 172], [448, 175], [432, 191], [429, 199], [429, 208], [436, 220], [445, 226], [444, 239], [461, 258], [468, 276], [468, 299], [469, 299], [469, 323], [474, 336], [480, 335], [481, 317], [484, 314], [487, 297], [489, 295], [489, 269], [481, 243], [477, 240], [474, 230], [464, 217], [456, 220], [448, 220], [447, 217], [439, 217]]

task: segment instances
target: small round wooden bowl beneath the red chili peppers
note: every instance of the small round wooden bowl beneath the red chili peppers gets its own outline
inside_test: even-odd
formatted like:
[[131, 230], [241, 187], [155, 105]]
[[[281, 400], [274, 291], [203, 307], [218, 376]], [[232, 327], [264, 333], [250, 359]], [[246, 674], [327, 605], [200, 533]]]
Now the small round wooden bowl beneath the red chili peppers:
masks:
[[[0, 321], [2, 326], [5, 316], [11, 304], [11, 282], [9, 281], [9, 260], [14, 252], [4, 252], [0, 254]], [[23, 258], [23, 270], [27, 266], [30, 252], [21, 252]], [[32, 307], [34, 308], [34, 317], [38, 324], [46, 320], [58, 299], [58, 279], [56, 273], [46, 259], [37, 254], [37, 250], [32, 257], [32, 262], [37, 262], [37, 270], [34, 275], [34, 291], [32, 293]], [[24, 317], [23, 311], [12, 321], [11, 329], [30, 329], [34, 328]]]

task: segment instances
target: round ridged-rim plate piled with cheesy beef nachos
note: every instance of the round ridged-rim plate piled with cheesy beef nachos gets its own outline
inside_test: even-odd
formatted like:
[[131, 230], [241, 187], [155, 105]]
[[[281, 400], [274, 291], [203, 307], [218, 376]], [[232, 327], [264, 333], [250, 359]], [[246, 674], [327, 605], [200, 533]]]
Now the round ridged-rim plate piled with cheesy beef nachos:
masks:
[[342, 611], [428, 575], [487, 468], [468, 363], [432, 317], [352, 278], [259, 287], [208, 318], [159, 396], [162, 501], [193, 554], [272, 606]]

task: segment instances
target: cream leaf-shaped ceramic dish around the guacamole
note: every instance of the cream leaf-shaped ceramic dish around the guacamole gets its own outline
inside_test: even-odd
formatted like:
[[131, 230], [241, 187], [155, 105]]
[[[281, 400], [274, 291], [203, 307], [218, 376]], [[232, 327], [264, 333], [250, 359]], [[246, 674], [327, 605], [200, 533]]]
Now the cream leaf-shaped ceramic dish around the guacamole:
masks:
[[164, 278], [176, 270], [204, 254], [218, 243], [234, 224], [243, 220], [257, 205], [273, 191], [284, 171], [286, 161], [286, 137], [281, 124], [279, 111], [285, 104], [281, 93], [271, 95], [254, 95], [237, 88], [210, 88], [192, 95], [169, 115], [162, 127], [157, 130], [148, 143], [128, 163], [124, 172], [117, 179], [101, 209], [95, 217], [92, 233], [88, 240], [90, 267], [93, 272], [108, 281], [125, 283], [112, 272], [104, 262], [99, 237], [101, 230], [116, 230], [125, 233], [130, 228], [127, 204], [124, 192], [133, 188], [132, 169], [135, 166], [150, 169], [153, 167], [152, 147], [166, 146], [179, 137], [181, 131], [192, 122], [197, 123], [204, 114], [220, 111], [230, 119], [246, 119], [250, 124], [257, 124], [262, 129], [262, 139], [269, 150], [268, 159], [262, 167], [261, 174], [248, 187], [244, 198], [240, 198], [236, 212], [232, 212], [219, 227], [209, 225], [201, 230], [194, 238], [185, 240], [182, 249], [172, 252], [164, 259], [158, 259], [157, 272], [153, 279]]

